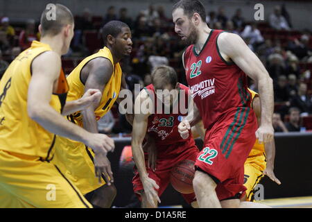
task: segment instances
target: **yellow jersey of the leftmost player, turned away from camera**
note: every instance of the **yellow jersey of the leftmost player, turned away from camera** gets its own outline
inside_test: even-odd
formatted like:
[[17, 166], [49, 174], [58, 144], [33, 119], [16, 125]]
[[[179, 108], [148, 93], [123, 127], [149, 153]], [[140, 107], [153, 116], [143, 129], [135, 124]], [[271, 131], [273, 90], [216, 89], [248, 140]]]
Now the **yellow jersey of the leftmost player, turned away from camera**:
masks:
[[[0, 150], [19, 155], [51, 160], [55, 135], [28, 116], [27, 96], [31, 81], [31, 65], [40, 54], [51, 51], [48, 44], [33, 41], [31, 47], [12, 61], [0, 82]], [[58, 89], [50, 105], [62, 112], [68, 92], [67, 80], [61, 70]]]

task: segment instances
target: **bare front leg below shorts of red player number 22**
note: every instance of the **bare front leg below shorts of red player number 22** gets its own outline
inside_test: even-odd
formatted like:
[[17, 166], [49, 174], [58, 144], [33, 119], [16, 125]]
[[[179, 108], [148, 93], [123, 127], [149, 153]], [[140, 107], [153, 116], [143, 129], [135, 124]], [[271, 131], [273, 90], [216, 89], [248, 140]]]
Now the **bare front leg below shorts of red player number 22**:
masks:
[[193, 187], [200, 208], [220, 208], [220, 201], [216, 195], [216, 182], [203, 171], [196, 171]]

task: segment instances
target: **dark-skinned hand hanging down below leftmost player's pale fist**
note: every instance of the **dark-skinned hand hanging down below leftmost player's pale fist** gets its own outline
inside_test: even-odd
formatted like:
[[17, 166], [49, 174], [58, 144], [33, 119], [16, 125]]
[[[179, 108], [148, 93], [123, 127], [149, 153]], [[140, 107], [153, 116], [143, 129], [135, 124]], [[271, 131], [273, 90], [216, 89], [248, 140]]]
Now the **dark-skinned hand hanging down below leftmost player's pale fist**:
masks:
[[99, 183], [101, 183], [102, 175], [105, 177], [108, 186], [111, 185], [111, 182], [114, 182], [110, 160], [106, 155], [101, 153], [94, 155], [94, 169]]

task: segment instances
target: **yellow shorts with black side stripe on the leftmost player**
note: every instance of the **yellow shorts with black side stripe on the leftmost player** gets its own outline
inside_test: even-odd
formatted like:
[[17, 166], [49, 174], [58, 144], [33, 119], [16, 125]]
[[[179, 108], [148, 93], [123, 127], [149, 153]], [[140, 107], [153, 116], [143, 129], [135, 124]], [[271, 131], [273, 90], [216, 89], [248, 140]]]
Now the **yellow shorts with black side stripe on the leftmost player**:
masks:
[[0, 150], [0, 208], [92, 208], [49, 162]]

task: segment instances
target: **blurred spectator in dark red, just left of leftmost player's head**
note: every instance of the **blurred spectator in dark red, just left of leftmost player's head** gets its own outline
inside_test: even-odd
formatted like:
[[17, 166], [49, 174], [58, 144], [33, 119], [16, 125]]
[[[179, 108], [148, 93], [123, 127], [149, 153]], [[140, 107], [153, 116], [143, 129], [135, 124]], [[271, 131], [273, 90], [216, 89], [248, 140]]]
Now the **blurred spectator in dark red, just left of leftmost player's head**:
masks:
[[26, 22], [26, 29], [19, 34], [19, 46], [24, 51], [31, 46], [34, 40], [39, 40], [39, 35], [35, 33], [35, 20], [29, 19]]

